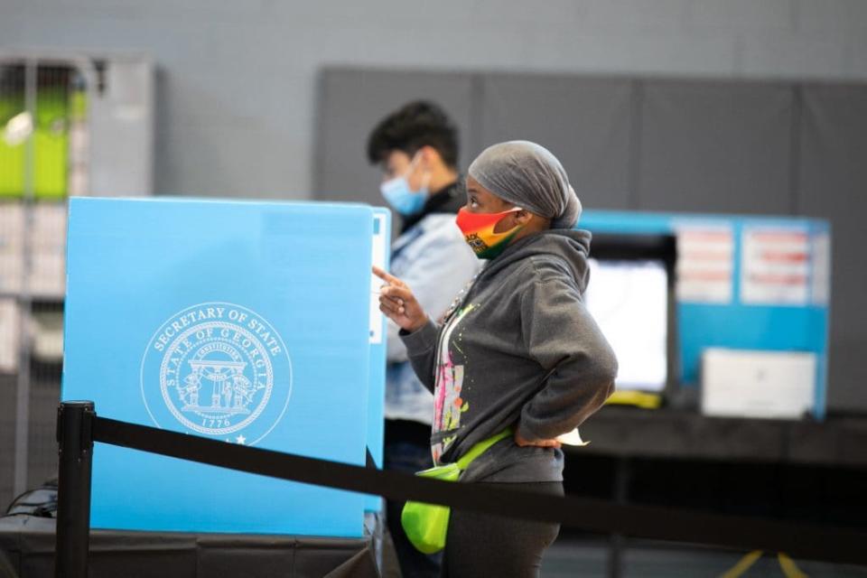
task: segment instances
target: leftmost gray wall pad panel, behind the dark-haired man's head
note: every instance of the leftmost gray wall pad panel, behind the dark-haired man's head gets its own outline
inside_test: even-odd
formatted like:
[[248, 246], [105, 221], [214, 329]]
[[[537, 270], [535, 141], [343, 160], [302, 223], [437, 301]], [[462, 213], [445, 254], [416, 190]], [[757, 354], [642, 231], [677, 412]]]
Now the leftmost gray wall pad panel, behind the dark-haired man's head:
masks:
[[368, 135], [382, 117], [415, 98], [433, 100], [452, 117], [461, 131], [460, 163], [466, 168], [472, 90], [467, 74], [325, 70], [317, 118], [316, 198], [384, 204], [379, 172], [367, 160]]

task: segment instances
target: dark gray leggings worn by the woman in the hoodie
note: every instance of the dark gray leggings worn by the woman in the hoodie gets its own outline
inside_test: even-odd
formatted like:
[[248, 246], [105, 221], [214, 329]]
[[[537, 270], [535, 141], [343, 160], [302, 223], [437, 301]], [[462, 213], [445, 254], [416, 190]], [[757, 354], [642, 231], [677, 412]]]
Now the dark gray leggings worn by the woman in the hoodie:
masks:
[[[563, 496], [563, 482], [484, 484]], [[503, 511], [508, 511], [504, 506]], [[443, 578], [536, 578], [542, 555], [559, 524], [528, 522], [452, 508], [445, 541]]]

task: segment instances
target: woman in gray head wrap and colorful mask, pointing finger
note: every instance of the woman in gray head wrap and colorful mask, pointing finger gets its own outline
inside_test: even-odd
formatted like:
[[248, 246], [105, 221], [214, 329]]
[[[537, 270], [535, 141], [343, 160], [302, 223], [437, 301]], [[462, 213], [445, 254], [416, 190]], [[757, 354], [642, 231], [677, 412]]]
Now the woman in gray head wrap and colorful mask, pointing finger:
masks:
[[[437, 464], [511, 428], [462, 482], [563, 494], [557, 437], [611, 395], [617, 361], [582, 303], [590, 233], [563, 166], [538, 144], [495, 144], [471, 164], [457, 224], [487, 265], [440, 323], [411, 289], [387, 282], [379, 304], [401, 327], [415, 373], [433, 391]], [[504, 505], [508, 514], [508, 505]], [[443, 575], [537, 576], [559, 525], [452, 510]]]

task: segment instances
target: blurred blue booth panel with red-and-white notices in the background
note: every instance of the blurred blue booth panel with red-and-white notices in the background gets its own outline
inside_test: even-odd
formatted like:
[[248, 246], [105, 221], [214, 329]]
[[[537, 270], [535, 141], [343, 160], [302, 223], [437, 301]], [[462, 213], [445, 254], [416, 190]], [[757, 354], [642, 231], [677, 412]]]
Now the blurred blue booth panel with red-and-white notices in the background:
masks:
[[[813, 413], [818, 418], [825, 415], [830, 292], [827, 221], [587, 210], [578, 228], [677, 237], [677, 359], [683, 387], [697, 387], [701, 355], [709, 347], [806, 351], [816, 354], [817, 361]], [[701, 238], [721, 231], [722, 242]], [[697, 241], [690, 240], [690, 232], [697, 233]], [[721, 282], [713, 282], [707, 275], [720, 271], [713, 258], [719, 256], [721, 247], [730, 247], [722, 266], [729, 273]], [[697, 293], [695, 287], [685, 285], [695, 273], [711, 279]]]

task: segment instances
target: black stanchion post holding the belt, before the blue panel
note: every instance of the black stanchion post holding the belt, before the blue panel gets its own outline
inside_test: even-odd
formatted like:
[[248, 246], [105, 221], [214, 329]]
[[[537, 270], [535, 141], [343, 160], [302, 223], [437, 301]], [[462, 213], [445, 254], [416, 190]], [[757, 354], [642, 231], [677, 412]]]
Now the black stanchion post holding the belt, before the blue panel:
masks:
[[64, 401], [57, 410], [60, 465], [57, 480], [55, 578], [87, 578], [90, 547], [92, 401]]

